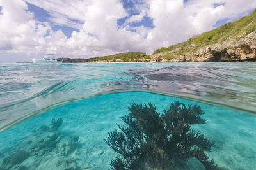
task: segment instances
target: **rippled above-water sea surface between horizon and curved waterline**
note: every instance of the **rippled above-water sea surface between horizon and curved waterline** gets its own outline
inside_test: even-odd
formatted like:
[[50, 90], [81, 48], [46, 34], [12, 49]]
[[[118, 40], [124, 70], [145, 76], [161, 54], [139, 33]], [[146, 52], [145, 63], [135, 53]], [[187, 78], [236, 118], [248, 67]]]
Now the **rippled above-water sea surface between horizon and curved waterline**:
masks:
[[256, 63], [0, 64], [0, 129], [113, 90], [153, 91], [256, 113]]

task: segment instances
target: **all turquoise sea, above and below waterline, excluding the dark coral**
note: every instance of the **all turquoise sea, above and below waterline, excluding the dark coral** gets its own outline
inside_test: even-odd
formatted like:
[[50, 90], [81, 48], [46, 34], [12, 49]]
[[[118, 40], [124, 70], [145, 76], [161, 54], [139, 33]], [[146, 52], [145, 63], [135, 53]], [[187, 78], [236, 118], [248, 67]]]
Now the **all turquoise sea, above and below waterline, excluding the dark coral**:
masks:
[[109, 169], [131, 103], [202, 108], [221, 169], [256, 167], [256, 62], [0, 64], [0, 169]]

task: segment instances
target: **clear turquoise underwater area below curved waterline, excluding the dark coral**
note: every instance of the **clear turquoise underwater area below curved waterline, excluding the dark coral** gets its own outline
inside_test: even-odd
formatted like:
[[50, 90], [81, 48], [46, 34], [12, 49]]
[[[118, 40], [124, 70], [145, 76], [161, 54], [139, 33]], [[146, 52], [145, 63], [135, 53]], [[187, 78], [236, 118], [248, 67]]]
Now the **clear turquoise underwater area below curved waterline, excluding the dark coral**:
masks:
[[[104, 139], [109, 131], [122, 124], [120, 117], [127, 115], [132, 102], [152, 102], [157, 112], [163, 113], [171, 102], [198, 104], [205, 112], [206, 124], [193, 125], [215, 143], [207, 155], [223, 169], [254, 169], [256, 166], [256, 132], [254, 115], [177, 97], [147, 92], [105, 94], [58, 106], [37, 117], [20, 122], [0, 132], [0, 167], [6, 169], [109, 169], [116, 153]], [[45, 131], [42, 125], [51, 124], [52, 118], [63, 119], [57, 131]], [[52, 139], [56, 135], [58, 139]], [[79, 137], [72, 143], [72, 137]], [[50, 140], [52, 139], [52, 141]], [[44, 145], [44, 144], [47, 145]], [[52, 146], [54, 145], [54, 147]], [[52, 146], [53, 148], [49, 149]], [[15, 159], [19, 151], [24, 160]], [[70, 152], [65, 152], [65, 150]], [[20, 155], [22, 155], [20, 153]], [[4, 163], [4, 157], [10, 162]], [[8, 160], [8, 159], [7, 159]], [[18, 163], [17, 163], [18, 162]]]

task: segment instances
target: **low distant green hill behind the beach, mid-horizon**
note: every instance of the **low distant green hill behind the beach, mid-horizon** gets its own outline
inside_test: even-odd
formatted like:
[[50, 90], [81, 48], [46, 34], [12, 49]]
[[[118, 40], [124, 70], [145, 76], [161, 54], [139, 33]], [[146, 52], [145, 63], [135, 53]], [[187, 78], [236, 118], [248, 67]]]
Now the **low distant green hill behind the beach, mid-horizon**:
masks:
[[150, 59], [150, 55], [146, 55], [142, 52], [118, 53], [115, 55], [91, 58], [88, 59], [88, 62], [128, 62], [129, 60], [134, 61], [134, 59], [136, 61], [138, 61], [139, 59]]

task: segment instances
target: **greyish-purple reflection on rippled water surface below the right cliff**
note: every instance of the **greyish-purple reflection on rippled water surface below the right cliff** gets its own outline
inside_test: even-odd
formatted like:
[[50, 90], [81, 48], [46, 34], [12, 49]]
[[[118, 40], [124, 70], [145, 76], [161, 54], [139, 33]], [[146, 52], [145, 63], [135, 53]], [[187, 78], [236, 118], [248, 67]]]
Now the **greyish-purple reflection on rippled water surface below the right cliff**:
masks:
[[[161, 69], [134, 69], [131, 84], [209, 103], [224, 104], [255, 113], [255, 69], [220, 66], [169, 66]], [[249, 72], [252, 71], [252, 72]], [[111, 87], [115, 89], [115, 87]]]

